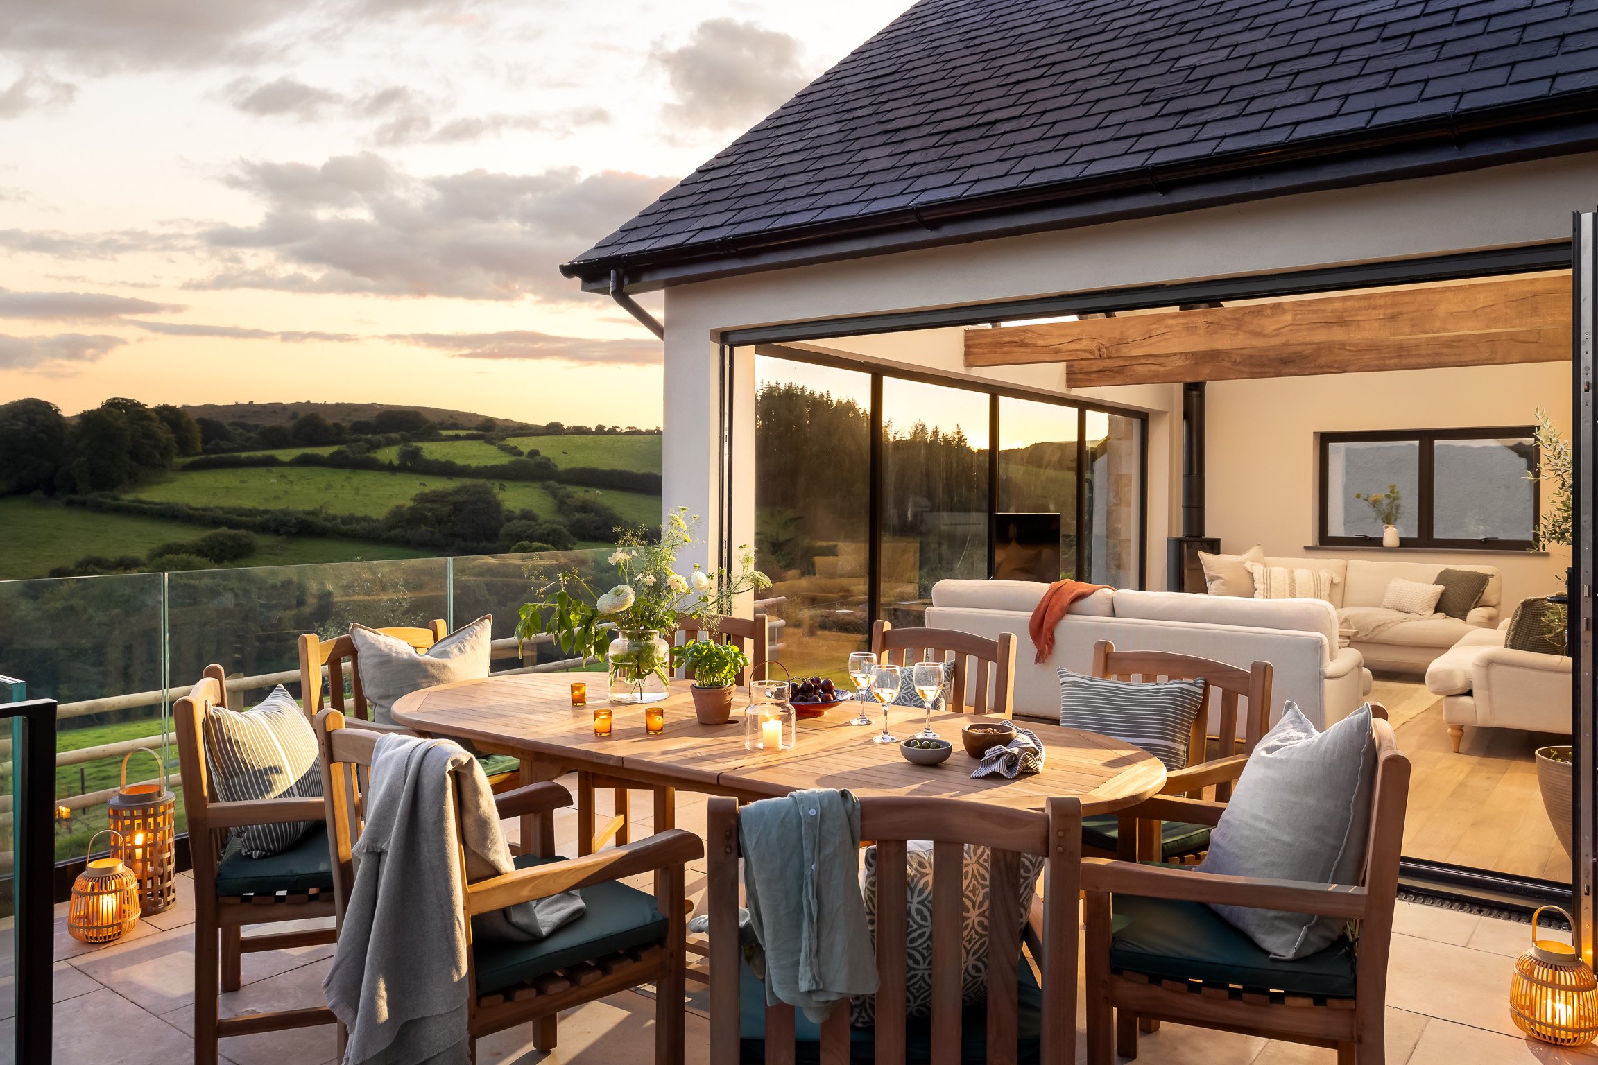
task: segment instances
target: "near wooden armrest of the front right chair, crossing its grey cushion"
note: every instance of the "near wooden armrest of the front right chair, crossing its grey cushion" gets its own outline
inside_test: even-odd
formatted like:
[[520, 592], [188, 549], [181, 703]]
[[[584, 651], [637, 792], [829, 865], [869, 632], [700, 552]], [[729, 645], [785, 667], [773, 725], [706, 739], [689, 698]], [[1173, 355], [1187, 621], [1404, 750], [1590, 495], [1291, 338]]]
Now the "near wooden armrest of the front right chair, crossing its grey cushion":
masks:
[[1136, 865], [1107, 857], [1082, 859], [1082, 889], [1342, 918], [1365, 917], [1368, 901], [1365, 888], [1346, 885], [1221, 877], [1179, 865]]

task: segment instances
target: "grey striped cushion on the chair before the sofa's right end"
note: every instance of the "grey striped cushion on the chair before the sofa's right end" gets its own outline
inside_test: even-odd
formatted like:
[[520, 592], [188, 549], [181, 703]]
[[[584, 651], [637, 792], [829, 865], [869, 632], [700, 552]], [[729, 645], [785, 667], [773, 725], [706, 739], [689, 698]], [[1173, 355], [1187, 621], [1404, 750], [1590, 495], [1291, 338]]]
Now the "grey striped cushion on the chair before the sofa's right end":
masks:
[[1104, 680], [1059, 669], [1059, 723], [1136, 744], [1165, 763], [1187, 765], [1187, 738], [1203, 709], [1203, 680]]

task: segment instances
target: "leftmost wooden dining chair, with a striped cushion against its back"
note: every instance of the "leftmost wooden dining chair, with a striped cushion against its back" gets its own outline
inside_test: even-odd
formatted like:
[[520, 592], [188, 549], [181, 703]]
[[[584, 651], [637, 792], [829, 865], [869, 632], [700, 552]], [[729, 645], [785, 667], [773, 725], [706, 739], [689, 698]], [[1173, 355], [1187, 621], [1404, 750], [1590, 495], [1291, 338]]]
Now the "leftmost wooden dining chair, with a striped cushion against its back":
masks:
[[[320, 928], [243, 934], [246, 924], [332, 917], [332, 862], [328, 832], [320, 827], [320, 798], [217, 800], [205, 747], [211, 707], [227, 707], [225, 674], [214, 664], [173, 704], [195, 881], [195, 1065], [216, 1065], [217, 1039], [336, 1022], [321, 1006], [219, 1016], [217, 995], [240, 988], [244, 953], [331, 944], [336, 932]], [[292, 821], [315, 821], [318, 827], [270, 857], [227, 851], [233, 827]]]

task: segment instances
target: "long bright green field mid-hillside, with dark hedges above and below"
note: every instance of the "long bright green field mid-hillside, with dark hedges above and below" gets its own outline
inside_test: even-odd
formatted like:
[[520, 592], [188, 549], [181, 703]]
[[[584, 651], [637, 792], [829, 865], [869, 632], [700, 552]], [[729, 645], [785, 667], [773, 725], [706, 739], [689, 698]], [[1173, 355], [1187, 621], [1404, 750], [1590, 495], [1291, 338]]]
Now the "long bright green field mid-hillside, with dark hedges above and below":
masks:
[[[463, 484], [460, 477], [371, 469], [328, 469], [324, 466], [256, 466], [244, 469], [195, 469], [177, 473], [155, 484], [128, 492], [141, 500], [182, 501], [208, 506], [288, 508], [329, 514], [371, 514], [382, 517], [392, 508], [409, 503], [417, 492]], [[495, 484], [495, 482], [489, 482]], [[532, 508], [555, 516], [550, 493], [535, 484], [505, 482], [500, 493], [511, 509]]]

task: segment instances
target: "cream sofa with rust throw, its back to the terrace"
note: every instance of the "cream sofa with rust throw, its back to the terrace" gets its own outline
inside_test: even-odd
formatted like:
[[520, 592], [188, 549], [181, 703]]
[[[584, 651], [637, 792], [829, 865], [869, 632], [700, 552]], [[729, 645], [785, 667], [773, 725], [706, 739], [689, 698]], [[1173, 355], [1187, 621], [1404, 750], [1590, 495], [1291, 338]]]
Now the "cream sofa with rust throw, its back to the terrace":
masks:
[[1179, 651], [1234, 666], [1274, 666], [1270, 720], [1291, 699], [1325, 728], [1358, 709], [1371, 690], [1360, 653], [1338, 647], [1338, 615], [1320, 599], [1229, 599], [1186, 592], [1098, 591], [1077, 600], [1055, 628], [1055, 651], [1034, 664], [1028, 621], [1048, 584], [938, 581], [927, 626], [996, 637], [1015, 632], [1015, 714], [1059, 720], [1056, 667], [1088, 672], [1093, 645]]

